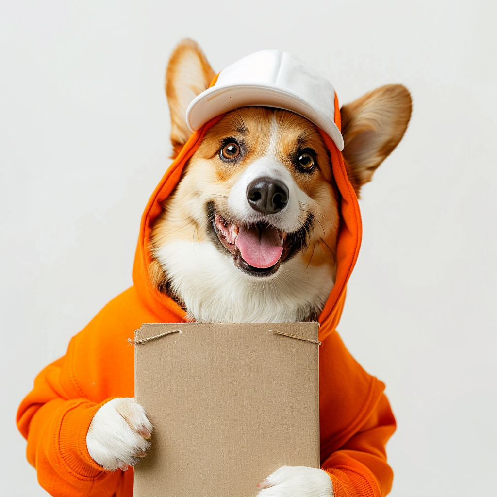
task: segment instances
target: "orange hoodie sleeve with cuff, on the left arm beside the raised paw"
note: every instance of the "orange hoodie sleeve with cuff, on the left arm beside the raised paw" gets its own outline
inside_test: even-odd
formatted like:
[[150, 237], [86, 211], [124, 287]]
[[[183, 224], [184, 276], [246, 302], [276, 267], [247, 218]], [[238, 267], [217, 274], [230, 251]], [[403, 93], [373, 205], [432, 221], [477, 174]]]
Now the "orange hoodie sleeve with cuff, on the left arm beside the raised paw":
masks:
[[27, 439], [27, 459], [38, 482], [53, 496], [112, 496], [122, 472], [102, 470], [86, 449], [86, 433], [96, 411], [94, 403], [71, 381], [70, 357], [47, 366], [17, 412], [17, 426]]

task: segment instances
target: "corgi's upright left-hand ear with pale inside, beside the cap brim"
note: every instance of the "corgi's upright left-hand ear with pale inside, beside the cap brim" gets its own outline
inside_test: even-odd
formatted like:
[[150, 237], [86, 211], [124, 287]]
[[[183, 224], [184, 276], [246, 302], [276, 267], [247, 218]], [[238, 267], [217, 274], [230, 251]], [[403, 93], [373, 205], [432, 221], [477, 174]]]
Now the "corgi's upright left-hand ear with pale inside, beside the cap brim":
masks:
[[178, 43], [167, 64], [166, 95], [171, 114], [171, 143], [176, 157], [191, 136], [186, 108], [209, 87], [215, 74], [198, 44], [186, 38]]

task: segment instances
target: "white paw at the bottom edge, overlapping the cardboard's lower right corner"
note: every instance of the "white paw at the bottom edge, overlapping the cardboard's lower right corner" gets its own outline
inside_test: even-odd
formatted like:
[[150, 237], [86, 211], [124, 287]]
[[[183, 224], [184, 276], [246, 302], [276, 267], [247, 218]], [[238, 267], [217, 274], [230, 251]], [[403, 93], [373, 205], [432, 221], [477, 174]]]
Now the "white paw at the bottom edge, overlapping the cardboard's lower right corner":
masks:
[[282, 466], [257, 488], [257, 497], [333, 497], [330, 475], [305, 466]]

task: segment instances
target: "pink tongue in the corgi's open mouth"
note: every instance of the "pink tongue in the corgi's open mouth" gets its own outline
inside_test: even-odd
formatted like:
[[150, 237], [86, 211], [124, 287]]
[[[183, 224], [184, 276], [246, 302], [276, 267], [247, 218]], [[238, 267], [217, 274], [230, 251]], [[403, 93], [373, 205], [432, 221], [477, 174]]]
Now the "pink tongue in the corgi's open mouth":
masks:
[[235, 245], [245, 262], [253, 267], [271, 267], [278, 262], [283, 252], [281, 239], [276, 228], [267, 227], [238, 229]]

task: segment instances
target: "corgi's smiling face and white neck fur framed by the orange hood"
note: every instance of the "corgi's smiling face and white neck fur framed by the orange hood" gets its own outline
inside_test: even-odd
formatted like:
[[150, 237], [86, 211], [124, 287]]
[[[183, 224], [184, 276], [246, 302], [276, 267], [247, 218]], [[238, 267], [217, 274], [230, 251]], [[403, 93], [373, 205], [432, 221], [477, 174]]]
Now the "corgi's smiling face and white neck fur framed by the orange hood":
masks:
[[[315, 317], [316, 304], [324, 305], [318, 294], [327, 296], [334, 281], [337, 198], [329, 153], [307, 119], [263, 107], [229, 112], [207, 131], [153, 231], [169, 291], [188, 311], [215, 294], [212, 308], [236, 309], [263, 293], [269, 313], [280, 294], [299, 310], [294, 320]], [[190, 297], [188, 276], [196, 292], [204, 282], [211, 294], [203, 306]], [[304, 298], [286, 289], [317, 279], [326, 289]], [[227, 302], [232, 295], [239, 306]], [[253, 309], [260, 312], [260, 303]]]

